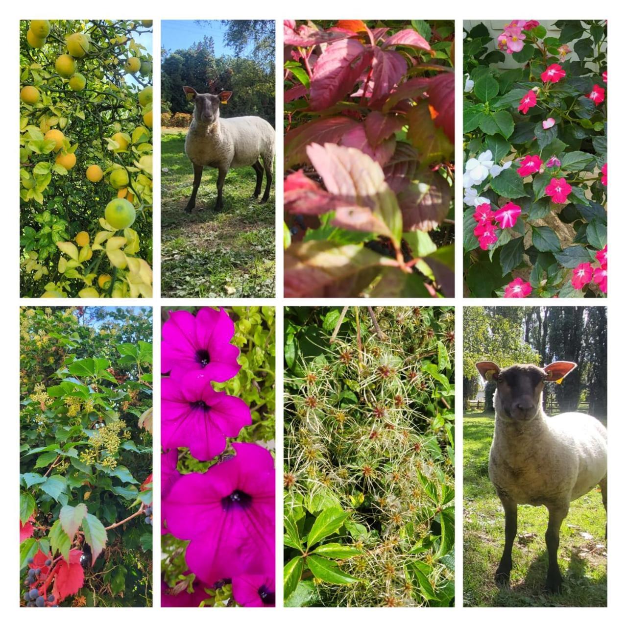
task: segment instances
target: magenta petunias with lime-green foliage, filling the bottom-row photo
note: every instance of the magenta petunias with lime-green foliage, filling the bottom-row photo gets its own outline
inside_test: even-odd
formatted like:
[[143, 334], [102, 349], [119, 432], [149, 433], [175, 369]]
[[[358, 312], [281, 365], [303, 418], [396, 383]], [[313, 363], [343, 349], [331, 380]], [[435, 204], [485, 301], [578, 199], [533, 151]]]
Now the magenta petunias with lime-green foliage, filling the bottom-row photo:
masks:
[[162, 606], [273, 606], [274, 308], [170, 311], [162, 337]]

